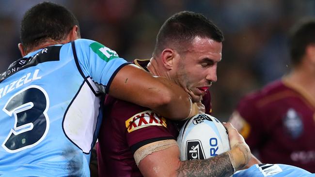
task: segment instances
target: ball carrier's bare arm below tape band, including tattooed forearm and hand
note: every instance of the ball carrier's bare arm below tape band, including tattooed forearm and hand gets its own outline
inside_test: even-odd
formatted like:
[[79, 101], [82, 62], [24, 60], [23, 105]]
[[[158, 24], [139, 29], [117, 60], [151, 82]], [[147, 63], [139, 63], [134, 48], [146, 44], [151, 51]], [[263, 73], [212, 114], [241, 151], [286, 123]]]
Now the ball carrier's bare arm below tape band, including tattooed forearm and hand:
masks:
[[[144, 177], [228, 177], [249, 162], [251, 152], [243, 137], [230, 124], [228, 130], [231, 150], [206, 160], [180, 161], [178, 146], [146, 155], [138, 167]], [[233, 164], [233, 165], [232, 165]]]

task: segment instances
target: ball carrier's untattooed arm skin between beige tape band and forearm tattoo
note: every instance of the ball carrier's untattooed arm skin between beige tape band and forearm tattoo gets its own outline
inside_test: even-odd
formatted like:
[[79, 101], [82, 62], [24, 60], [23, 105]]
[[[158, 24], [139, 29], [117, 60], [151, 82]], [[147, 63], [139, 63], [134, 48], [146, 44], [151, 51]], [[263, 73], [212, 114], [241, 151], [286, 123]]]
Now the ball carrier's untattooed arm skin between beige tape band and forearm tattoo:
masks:
[[144, 177], [176, 176], [176, 169], [180, 167], [179, 154], [178, 146], [155, 151], [145, 156], [138, 167]]

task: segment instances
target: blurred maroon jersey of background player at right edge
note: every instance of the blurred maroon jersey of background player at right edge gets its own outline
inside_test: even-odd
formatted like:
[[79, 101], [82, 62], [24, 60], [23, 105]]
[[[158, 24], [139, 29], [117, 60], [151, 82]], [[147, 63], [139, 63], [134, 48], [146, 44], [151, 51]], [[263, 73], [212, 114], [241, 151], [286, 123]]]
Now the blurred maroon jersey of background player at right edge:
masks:
[[315, 173], [315, 100], [286, 80], [240, 101], [230, 121], [265, 163], [284, 163]]

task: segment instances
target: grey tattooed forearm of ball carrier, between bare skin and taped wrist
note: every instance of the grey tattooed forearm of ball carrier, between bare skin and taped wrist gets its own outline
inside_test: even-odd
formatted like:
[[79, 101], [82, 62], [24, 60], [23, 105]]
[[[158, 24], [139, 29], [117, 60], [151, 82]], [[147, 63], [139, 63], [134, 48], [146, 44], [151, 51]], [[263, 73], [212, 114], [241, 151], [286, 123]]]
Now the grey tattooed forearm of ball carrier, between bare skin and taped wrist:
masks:
[[229, 177], [233, 167], [227, 153], [211, 157], [207, 160], [181, 162], [178, 177]]

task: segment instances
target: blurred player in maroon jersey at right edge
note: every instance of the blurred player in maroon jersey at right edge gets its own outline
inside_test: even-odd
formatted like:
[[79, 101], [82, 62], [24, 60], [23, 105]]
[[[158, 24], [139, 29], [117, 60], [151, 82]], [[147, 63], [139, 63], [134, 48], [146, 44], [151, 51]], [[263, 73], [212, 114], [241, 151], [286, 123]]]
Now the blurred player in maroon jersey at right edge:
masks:
[[315, 173], [315, 19], [290, 32], [292, 71], [243, 98], [230, 121], [262, 162]]

